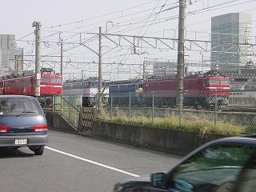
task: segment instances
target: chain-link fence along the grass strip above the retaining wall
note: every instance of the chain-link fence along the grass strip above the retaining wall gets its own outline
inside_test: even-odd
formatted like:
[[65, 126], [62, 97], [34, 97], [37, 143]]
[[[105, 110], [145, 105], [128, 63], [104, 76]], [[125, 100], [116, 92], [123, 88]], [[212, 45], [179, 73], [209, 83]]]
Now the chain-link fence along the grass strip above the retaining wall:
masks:
[[176, 91], [110, 94], [101, 117], [136, 125], [219, 134], [256, 132], [256, 90]]

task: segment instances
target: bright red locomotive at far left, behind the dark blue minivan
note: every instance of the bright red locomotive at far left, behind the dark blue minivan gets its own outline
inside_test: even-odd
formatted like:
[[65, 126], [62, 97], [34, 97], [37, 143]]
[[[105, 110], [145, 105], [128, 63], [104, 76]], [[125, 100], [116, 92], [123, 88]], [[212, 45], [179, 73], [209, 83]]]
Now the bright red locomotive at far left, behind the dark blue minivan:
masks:
[[[40, 95], [62, 95], [62, 76], [54, 74], [54, 70], [42, 68]], [[21, 94], [34, 96], [35, 74], [23, 74], [21, 77], [3, 78], [0, 81], [0, 94]]]

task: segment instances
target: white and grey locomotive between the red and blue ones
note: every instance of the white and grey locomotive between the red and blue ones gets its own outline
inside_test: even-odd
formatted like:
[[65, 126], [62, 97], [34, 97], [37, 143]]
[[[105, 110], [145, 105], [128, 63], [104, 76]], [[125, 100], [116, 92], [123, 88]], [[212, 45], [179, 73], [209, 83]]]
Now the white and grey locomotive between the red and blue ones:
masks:
[[[96, 105], [98, 97], [98, 79], [88, 78], [77, 81], [67, 81], [63, 84], [63, 96], [82, 97], [82, 106]], [[107, 104], [109, 98], [109, 83], [102, 82], [102, 102]]]

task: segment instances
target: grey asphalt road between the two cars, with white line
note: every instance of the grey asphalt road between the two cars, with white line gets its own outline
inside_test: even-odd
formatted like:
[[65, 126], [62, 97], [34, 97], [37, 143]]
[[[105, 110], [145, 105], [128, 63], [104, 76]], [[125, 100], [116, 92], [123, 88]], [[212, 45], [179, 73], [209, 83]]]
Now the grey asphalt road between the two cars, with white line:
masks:
[[102, 192], [114, 183], [166, 171], [181, 157], [50, 131], [42, 156], [0, 149], [1, 192]]

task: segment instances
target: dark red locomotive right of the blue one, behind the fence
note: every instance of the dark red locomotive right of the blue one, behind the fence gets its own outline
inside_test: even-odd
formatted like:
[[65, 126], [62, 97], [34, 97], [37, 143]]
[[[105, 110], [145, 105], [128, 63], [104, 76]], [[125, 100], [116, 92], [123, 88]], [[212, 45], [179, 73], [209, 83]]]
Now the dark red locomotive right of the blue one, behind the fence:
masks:
[[[174, 106], [177, 97], [176, 78], [143, 82], [142, 98], [146, 103], [152, 102], [154, 91], [154, 105]], [[184, 106], [220, 106], [228, 105], [230, 96], [230, 78], [218, 76], [213, 72], [190, 75], [184, 78]]]

